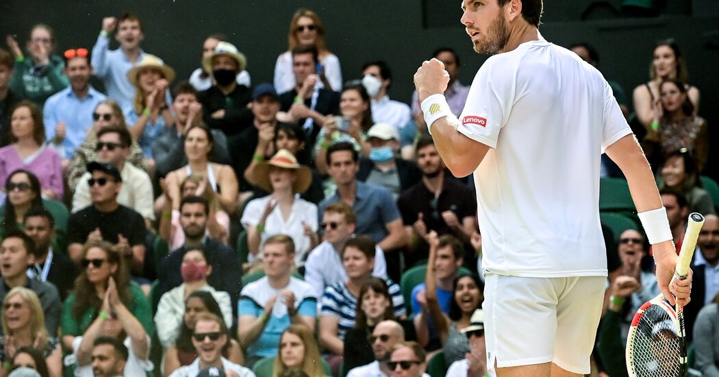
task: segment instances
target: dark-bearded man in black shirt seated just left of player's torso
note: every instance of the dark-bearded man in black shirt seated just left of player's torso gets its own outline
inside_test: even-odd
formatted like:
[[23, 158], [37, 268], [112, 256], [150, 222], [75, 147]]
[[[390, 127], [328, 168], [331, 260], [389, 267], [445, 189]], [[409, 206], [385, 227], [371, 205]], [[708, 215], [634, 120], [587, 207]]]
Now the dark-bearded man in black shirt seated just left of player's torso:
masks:
[[[472, 232], [477, 230], [477, 202], [472, 188], [451, 176], [445, 177], [445, 166], [434, 142], [424, 137], [417, 142], [417, 165], [422, 180], [397, 199], [402, 222], [412, 240], [413, 252], [405, 256], [406, 265], [426, 259], [429, 255], [427, 234], [453, 235], [470, 245]], [[464, 255], [467, 265], [477, 265], [474, 255]]]

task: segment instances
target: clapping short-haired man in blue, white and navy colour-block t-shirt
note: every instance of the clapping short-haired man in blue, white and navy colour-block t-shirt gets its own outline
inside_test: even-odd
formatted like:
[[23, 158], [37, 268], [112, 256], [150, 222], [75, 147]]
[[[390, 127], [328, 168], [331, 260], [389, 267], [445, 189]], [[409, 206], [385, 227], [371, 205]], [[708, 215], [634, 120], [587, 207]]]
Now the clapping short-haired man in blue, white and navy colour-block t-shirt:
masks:
[[273, 235], [262, 247], [265, 276], [247, 284], [239, 300], [238, 338], [247, 349], [247, 365], [277, 355], [280, 335], [290, 324], [314, 330], [317, 298], [308, 283], [292, 276], [295, 245]]

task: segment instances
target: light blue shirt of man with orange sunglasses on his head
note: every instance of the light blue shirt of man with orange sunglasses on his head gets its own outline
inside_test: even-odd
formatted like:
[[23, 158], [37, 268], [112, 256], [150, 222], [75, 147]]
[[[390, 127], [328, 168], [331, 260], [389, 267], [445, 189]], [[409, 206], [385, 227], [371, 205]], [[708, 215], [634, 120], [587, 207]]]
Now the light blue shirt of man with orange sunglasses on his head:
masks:
[[95, 107], [107, 97], [96, 91], [92, 86], [83, 99], [80, 99], [73, 89], [68, 88], [50, 96], [42, 109], [42, 120], [45, 122], [45, 135], [47, 140], [55, 137], [55, 126], [65, 122], [65, 139], [62, 145], [55, 149], [60, 158], [69, 159], [87, 136], [88, 129], [92, 127], [92, 114]]

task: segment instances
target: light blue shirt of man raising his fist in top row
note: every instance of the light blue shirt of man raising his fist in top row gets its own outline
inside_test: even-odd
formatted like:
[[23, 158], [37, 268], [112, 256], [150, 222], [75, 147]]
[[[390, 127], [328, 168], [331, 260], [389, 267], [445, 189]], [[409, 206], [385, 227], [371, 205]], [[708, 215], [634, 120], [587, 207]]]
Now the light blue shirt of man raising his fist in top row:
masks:
[[[93, 74], [105, 83], [107, 96], [110, 99], [121, 105], [132, 104], [135, 87], [127, 78], [127, 73], [139, 64], [147, 53], [140, 50], [139, 57], [132, 63], [122, 49], [108, 50], [109, 46], [110, 39], [101, 33], [92, 47]], [[126, 123], [129, 124], [127, 120]]]

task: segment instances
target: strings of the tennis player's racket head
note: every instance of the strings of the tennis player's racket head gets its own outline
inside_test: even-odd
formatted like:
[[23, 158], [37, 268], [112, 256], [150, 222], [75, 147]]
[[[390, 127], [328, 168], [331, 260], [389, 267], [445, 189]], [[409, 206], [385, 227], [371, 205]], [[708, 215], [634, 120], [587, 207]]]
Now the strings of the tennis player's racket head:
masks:
[[651, 305], [637, 324], [633, 341], [636, 376], [679, 377], [683, 368], [681, 340], [674, 319], [664, 309]]

